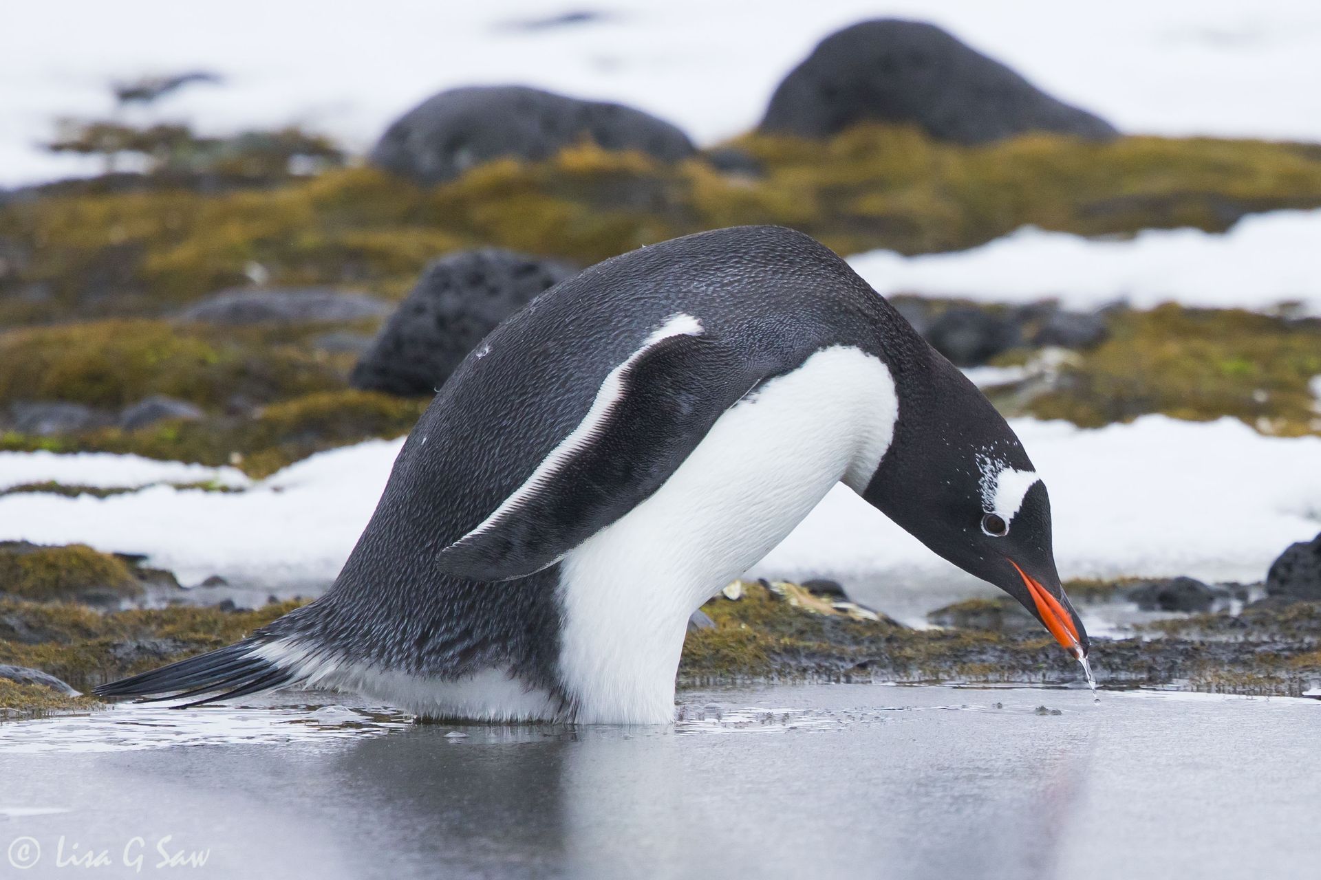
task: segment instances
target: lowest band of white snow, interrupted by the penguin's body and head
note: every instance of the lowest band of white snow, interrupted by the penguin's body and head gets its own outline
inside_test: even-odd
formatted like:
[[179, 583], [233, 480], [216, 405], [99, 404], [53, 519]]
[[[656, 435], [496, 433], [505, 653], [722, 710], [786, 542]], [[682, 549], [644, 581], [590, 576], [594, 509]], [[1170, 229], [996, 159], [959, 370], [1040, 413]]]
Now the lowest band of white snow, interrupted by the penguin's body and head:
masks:
[[[1050, 492], [1065, 578], [1259, 581], [1285, 546], [1321, 529], [1321, 438], [1263, 437], [1229, 418], [1162, 416], [1095, 430], [1034, 420], [1012, 426]], [[0, 497], [0, 540], [145, 553], [185, 583], [209, 574], [272, 586], [329, 582], [366, 526], [402, 443], [322, 453], [247, 492], [156, 486], [107, 499], [9, 495]], [[128, 456], [100, 460], [120, 458]], [[843, 486], [752, 573], [845, 583], [968, 578]]]

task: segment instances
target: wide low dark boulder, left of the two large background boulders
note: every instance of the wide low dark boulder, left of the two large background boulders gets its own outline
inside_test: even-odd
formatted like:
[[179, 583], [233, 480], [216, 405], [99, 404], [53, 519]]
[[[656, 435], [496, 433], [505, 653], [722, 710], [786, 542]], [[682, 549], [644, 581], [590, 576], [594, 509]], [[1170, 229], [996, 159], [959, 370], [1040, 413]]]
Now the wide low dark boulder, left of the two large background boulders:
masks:
[[440, 183], [503, 156], [550, 158], [584, 139], [663, 161], [695, 152], [682, 131], [631, 107], [524, 86], [470, 86], [443, 91], [404, 113], [369, 158], [421, 183]]

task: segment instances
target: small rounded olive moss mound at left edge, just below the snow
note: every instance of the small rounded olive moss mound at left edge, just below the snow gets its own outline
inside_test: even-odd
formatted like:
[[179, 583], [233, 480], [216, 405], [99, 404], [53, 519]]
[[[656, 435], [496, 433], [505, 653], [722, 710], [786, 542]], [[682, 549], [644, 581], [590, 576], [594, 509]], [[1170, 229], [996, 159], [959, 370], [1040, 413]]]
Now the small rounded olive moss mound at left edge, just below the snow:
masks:
[[0, 545], [0, 592], [40, 602], [91, 594], [132, 598], [141, 586], [116, 557], [87, 545]]

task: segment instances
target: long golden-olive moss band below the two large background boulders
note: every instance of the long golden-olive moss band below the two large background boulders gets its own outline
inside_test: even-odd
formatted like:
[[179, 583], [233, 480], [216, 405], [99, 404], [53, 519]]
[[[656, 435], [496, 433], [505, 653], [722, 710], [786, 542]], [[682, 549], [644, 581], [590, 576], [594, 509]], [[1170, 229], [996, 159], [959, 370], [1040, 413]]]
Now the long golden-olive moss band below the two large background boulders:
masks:
[[242, 284], [353, 284], [403, 293], [435, 256], [503, 245], [576, 260], [684, 232], [791, 226], [849, 253], [971, 247], [1025, 223], [1086, 235], [1148, 227], [1223, 230], [1248, 211], [1321, 204], [1321, 156], [1299, 145], [1029, 136], [941, 144], [863, 125], [828, 141], [749, 135], [733, 145], [765, 169], [723, 175], [700, 160], [660, 164], [593, 145], [544, 162], [502, 160], [428, 189], [338, 169], [264, 190], [67, 193], [0, 207], [16, 260], [0, 321], [159, 314]]

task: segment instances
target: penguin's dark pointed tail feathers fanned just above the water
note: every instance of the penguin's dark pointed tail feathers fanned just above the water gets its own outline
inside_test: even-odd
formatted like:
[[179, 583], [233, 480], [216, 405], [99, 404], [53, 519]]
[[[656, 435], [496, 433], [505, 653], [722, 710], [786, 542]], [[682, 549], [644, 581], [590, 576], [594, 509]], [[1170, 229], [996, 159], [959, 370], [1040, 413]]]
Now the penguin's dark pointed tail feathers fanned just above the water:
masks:
[[137, 697], [140, 703], [202, 697], [174, 706], [188, 708], [271, 690], [299, 677], [295, 670], [258, 653], [263, 644], [259, 639], [244, 639], [227, 648], [100, 685], [94, 693], [98, 697]]

